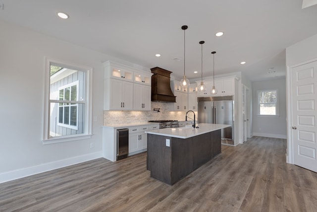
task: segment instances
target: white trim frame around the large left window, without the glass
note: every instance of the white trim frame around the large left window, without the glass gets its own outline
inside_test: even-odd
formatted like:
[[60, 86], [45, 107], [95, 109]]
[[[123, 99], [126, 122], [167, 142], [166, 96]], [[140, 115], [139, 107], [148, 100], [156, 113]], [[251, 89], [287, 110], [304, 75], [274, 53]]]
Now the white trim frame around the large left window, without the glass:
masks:
[[[85, 72], [85, 97], [83, 102], [85, 103], [85, 133], [77, 135], [59, 136], [50, 138], [50, 66], [59, 66], [67, 69], [73, 69], [77, 71]], [[53, 58], [45, 58], [45, 74], [44, 74], [44, 116], [43, 116], [43, 144], [66, 142], [66, 141], [76, 141], [82, 139], [89, 139], [92, 136], [92, 67], [87, 67], [83, 65], [78, 65], [74, 63], [69, 63]]]

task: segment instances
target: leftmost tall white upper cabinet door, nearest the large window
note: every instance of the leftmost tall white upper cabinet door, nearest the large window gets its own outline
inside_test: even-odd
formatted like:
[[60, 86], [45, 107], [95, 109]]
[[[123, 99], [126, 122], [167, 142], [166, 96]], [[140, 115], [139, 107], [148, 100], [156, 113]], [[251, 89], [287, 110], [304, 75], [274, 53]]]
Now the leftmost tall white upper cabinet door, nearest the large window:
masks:
[[122, 108], [122, 81], [110, 80], [110, 110], [118, 110]]

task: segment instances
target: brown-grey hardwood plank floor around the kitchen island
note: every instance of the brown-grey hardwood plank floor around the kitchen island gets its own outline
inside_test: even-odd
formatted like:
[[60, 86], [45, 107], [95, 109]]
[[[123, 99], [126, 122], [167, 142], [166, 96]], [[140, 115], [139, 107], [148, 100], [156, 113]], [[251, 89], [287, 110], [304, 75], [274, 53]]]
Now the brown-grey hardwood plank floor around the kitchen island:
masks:
[[286, 141], [253, 137], [169, 186], [146, 153], [100, 158], [0, 184], [0, 211], [316, 212], [317, 173], [285, 163]]

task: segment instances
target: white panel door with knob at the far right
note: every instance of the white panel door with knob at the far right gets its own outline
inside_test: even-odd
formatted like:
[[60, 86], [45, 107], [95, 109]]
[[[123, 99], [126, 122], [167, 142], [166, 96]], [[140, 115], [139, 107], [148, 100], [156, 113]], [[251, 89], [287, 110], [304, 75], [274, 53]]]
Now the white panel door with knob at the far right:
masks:
[[317, 172], [317, 61], [291, 70], [294, 164]]

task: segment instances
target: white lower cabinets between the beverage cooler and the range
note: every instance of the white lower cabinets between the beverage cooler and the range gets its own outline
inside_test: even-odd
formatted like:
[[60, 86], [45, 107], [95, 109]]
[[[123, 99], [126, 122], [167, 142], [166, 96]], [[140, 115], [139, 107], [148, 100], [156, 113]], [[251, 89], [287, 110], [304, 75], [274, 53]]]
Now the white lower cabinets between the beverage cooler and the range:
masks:
[[149, 126], [138, 126], [129, 128], [129, 156], [147, 150], [148, 136], [145, 131]]

